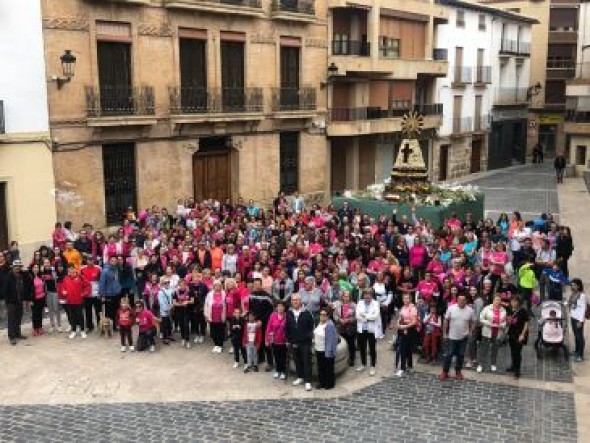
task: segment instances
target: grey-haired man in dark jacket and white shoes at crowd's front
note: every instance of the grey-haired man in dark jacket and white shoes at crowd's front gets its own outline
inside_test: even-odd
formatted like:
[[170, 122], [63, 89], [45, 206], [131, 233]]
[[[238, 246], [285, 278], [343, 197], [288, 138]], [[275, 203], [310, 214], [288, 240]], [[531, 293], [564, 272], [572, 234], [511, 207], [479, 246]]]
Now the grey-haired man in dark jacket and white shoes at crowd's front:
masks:
[[305, 381], [305, 390], [311, 391], [311, 341], [313, 338], [313, 317], [301, 303], [301, 296], [291, 296], [291, 309], [287, 312], [285, 336], [293, 349], [297, 379], [293, 386]]

